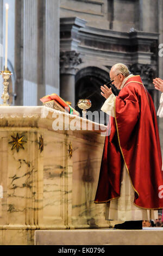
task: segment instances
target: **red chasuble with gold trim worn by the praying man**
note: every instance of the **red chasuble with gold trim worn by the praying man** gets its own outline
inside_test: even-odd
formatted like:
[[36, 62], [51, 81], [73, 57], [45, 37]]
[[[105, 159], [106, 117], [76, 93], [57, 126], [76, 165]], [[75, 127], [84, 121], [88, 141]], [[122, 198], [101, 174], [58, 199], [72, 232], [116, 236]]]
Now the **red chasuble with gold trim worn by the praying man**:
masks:
[[135, 191], [134, 204], [163, 208], [161, 149], [155, 108], [140, 76], [115, 97], [115, 118], [106, 136], [95, 203], [120, 197], [123, 164]]

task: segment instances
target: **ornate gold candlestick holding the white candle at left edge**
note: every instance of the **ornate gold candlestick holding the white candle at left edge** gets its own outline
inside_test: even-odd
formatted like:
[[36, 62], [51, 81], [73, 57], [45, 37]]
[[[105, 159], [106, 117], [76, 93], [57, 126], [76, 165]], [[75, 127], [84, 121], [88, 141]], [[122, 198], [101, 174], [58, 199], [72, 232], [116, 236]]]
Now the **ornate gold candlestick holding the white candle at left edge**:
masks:
[[1, 75], [2, 75], [3, 80], [4, 80], [4, 82], [3, 82], [3, 86], [4, 86], [3, 87], [3, 94], [1, 96], [2, 99], [3, 99], [3, 104], [1, 106], [9, 106], [7, 104], [7, 101], [9, 99], [9, 94], [8, 94], [9, 82], [8, 82], [8, 80], [9, 80], [10, 76], [12, 75], [12, 73], [10, 71], [6, 70], [6, 71], [1, 71]]

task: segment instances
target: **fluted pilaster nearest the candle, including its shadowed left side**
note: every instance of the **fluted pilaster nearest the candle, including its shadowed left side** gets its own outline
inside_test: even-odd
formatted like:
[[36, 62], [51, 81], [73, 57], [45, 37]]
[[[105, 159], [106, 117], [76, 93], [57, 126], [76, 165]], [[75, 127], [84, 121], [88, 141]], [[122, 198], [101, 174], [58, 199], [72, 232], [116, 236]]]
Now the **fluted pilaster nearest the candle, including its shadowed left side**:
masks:
[[16, 105], [37, 105], [37, 0], [16, 0]]

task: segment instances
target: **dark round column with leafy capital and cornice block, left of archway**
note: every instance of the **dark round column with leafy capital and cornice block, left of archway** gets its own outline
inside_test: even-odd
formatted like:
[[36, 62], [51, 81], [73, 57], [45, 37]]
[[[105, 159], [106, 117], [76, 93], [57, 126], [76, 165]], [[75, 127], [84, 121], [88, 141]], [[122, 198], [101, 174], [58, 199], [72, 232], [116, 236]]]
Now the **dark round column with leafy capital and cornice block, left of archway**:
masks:
[[85, 20], [78, 17], [60, 19], [60, 96], [71, 101], [75, 107], [75, 75], [82, 63], [78, 53], [79, 30], [84, 28]]

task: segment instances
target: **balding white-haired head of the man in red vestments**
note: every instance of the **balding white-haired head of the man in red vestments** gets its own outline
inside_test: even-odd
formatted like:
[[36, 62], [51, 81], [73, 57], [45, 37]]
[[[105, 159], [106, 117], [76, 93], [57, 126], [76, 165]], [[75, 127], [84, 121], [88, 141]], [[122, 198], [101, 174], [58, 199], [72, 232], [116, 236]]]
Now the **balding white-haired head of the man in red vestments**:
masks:
[[114, 86], [118, 89], [121, 88], [124, 78], [128, 77], [129, 75], [130, 71], [128, 67], [122, 63], [115, 64], [110, 70], [110, 79], [114, 80], [112, 84], [114, 84]]

